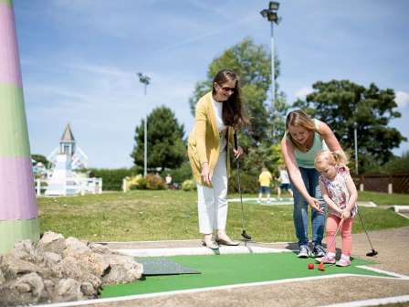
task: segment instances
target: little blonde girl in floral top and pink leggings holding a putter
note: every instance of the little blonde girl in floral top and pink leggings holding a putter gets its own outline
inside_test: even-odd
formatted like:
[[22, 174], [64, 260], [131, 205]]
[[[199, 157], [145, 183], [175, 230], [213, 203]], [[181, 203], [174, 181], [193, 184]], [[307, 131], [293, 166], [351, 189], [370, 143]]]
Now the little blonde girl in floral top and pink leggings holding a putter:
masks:
[[[330, 212], [327, 217], [327, 254], [317, 261], [335, 263], [335, 232], [341, 226], [342, 254], [337, 266], [347, 267], [351, 264], [352, 217], [357, 213], [356, 199], [358, 192], [350, 172], [345, 166], [347, 158], [342, 152], [323, 151], [315, 157], [315, 167], [320, 172], [320, 190], [322, 198], [328, 204]], [[329, 247], [328, 244], [333, 242]]]

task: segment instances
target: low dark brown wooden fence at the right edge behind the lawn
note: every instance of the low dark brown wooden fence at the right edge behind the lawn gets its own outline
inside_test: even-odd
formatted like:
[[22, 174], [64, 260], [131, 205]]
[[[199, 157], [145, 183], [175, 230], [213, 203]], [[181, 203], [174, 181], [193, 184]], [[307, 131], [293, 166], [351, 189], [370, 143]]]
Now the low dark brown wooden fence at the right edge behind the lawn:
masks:
[[362, 175], [355, 183], [361, 191], [409, 194], [409, 173]]

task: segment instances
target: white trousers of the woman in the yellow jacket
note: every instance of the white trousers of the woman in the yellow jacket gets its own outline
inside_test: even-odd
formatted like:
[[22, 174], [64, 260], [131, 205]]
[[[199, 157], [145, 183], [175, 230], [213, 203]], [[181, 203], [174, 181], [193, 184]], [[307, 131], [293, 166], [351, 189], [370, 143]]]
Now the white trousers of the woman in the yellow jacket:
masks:
[[213, 187], [197, 184], [197, 212], [199, 231], [211, 234], [215, 229], [225, 230], [227, 219], [227, 169], [225, 151], [220, 153], [212, 177]]

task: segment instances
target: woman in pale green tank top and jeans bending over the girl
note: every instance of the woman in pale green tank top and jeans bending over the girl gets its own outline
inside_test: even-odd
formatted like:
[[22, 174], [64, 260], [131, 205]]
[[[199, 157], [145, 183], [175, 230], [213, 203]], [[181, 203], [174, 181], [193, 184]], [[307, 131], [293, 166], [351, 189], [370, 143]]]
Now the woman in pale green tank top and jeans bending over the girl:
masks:
[[[328, 146], [327, 146], [328, 145]], [[342, 151], [341, 145], [325, 122], [311, 119], [305, 112], [288, 113], [281, 150], [294, 192], [294, 227], [299, 239], [299, 258], [323, 257], [325, 202], [320, 192], [320, 173], [315, 169], [315, 155], [330, 147]], [[311, 207], [312, 252], [309, 249], [308, 205]]]

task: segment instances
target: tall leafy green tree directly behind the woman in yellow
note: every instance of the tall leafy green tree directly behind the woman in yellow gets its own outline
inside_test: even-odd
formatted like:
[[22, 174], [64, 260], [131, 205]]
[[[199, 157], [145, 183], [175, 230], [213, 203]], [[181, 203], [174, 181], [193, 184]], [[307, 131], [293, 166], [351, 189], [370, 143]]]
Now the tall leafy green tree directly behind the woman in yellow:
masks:
[[[267, 100], [271, 85], [270, 61], [267, 49], [254, 44], [253, 40], [247, 37], [235, 46], [227, 48], [210, 63], [207, 79], [196, 83], [194, 94], [189, 100], [190, 109], [194, 115], [196, 102], [206, 92], [212, 90], [213, 78], [220, 69], [233, 69], [240, 76], [242, 99], [250, 126], [243, 133], [239, 133], [239, 143], [247, 149], [248, 153], [248, 159], [245, 160], [243, 168], [252, 170], [255, 174], [262, 164], [267, 165], [271, 160], [271, 157], [268, 157], [273, 154], [270, 145], [277, 143], [278, 136], [282, 136], [284, 116], [288, 110], [286, 97], [281, 92], [277, 94], [278, 99], [273, 109], [271, 102]], [[275, 67], [277, 79], [280, 71], [278, 58], [275, 59]], [[278, 91], [278, 85], [276, 85], [276, 91]], [[255, 165], [257, 165], [256, 169]]]

